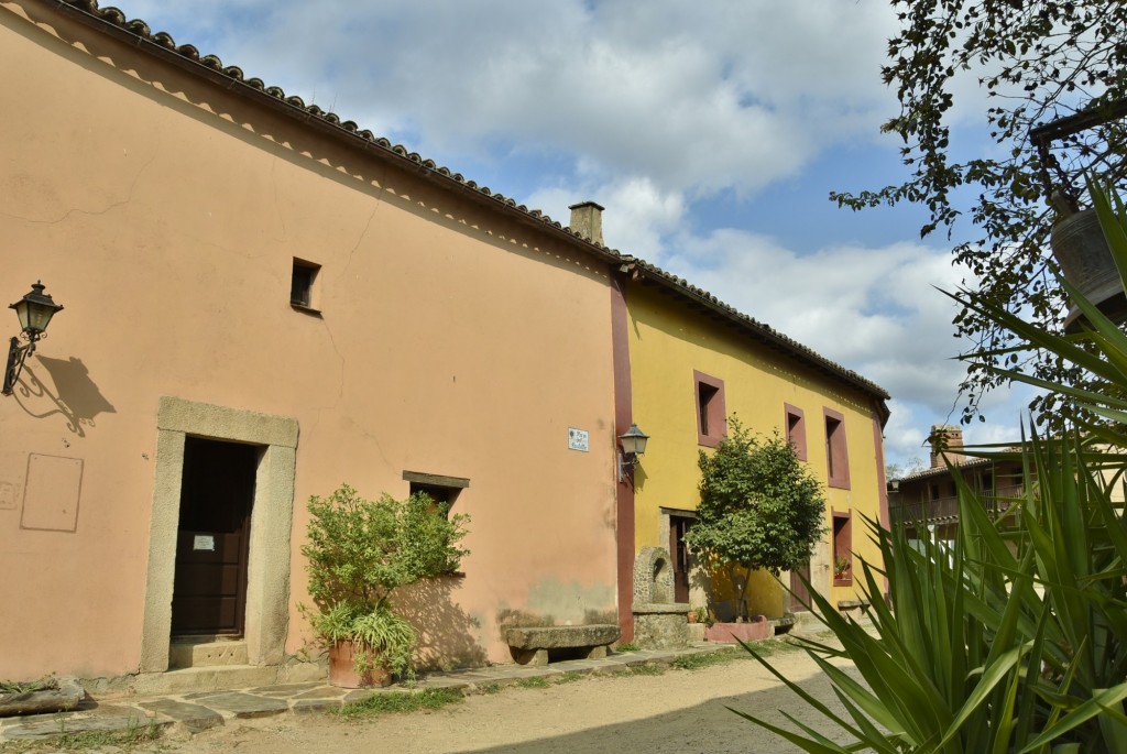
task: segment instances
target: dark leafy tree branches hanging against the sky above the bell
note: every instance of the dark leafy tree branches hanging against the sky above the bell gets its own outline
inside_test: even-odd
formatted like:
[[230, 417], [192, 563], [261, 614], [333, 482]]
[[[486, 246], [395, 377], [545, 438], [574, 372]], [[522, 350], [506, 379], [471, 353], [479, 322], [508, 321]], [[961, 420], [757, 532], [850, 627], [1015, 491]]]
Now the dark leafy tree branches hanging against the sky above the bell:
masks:
[[[1127, 95], [1127, 3], [1122, 0], [891, 0], [900, 23], [889, 41], [886, 83], [896, 88], [899, 115], [884, 130], [904, 140], [911, 177], [898, 186], [859, 194], [832, 193], [859, 210], [912, 202], [930, 211], [922, 236], [946, 230], [955, 261], [978, 281], [975, 301], [1028, 316], [1061, 329], [1065, 296], [1045, 252], [1055, 204], [1072, 211], [1084, 175], [1122, 188], [1124, 98]], [[996, 148], [959, 161], [951, 149], [957, 90], [977, 78], [990, 106], [986, 123]], [[1030, 130], [1089, 114], [1081, 133], [1039, 149]], [[1099, 121], [1106, 121], [1099, 123]], [[975, 198], [977, 197], [977, 198]], [[974, 229], [958, 223], [969, 214]], [[956, 232], [958, 231], [958, 233]], [[1076, 384], [1084, 373], [1048, 351], [1019, 357], [1006, 351], [1014, 335], [982, 311], [964, 305], [956, 335], [985, 354], [968, 366], [961, 385], [962, 420], [978, 411], [983, 392], [1006, 381], [994, 366]], [[1054, 398], [1035, 408], [1051, 408]], [[982, 417], [979, 417], [982, 418]]]

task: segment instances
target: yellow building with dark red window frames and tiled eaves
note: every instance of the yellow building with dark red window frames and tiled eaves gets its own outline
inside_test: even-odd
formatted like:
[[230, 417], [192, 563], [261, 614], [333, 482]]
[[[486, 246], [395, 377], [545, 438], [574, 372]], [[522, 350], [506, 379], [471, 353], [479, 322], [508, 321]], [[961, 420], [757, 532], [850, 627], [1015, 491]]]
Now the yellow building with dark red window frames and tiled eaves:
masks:
[[[854, 553], [878, 561], [862, 516], [887, 524], [881, 428], [888, 393], [651, 265], [630, 259], [622, 274], [618, 362], [628, 351], [630, 418], [651, 437], [632, 488], [629, 479], [620, 486], [630, 498], [620, 500], [620, 514], [633, 512], [635, 551], [668, 548], [676, 601], [704, 604], [709, 579], [693, 571], [681, 536], [700, 500], [699, 451], [715, 447], [735, 415], [754, 433], [789, 437], [825, 485], [827, 534], [810, 558], [810, 583], [835, 604], [858, 600], [852, 571], [842, 566]], [[620, 517], [621, 530], [623, 523]], [[712, 596], [734, 609], [724, 604], [730, 595]], [[801, 610], [790, 603], [770, 574], [752, 576], [751, 614]]]

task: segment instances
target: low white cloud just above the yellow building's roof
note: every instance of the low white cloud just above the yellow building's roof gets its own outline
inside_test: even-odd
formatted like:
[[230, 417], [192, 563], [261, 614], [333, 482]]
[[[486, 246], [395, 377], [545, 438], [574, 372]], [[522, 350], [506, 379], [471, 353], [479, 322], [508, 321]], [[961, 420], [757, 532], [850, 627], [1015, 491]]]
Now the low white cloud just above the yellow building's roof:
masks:
[[962, 369], [947, 252], [917, 243], [825, 248], [798, 256], [774, 239], [734, 230], [678, 239], [665, 264], [676, 274], [904, 400], [950, 400]]

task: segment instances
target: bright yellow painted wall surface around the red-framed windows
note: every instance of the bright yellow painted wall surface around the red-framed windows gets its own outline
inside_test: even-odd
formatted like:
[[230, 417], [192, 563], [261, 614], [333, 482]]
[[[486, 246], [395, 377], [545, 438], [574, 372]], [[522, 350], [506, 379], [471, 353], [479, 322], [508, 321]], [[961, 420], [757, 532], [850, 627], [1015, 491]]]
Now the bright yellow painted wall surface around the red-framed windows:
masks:
[[[630, 373], [635, 422], [650, 435], [635, 474], [636, 545], [668, 547], [660, 535], [659, 508], [693, 511], [700, 502], [695, 372], [724, 382], [727, 414], [761, 435], [786, 436], [784, 406], [802, 410], [807, 464], [823, 484], [827, 480], [823, 409], [844, 416], [850, 488], [826, 487], [826, 527], [832, 512], [852, 511], [853, 550], [875, 561], [878, 550], [868, 540], [860, 515], [879, 520], [882, 481], [879, 424], [875, 433], [870, 399], [855, 388], [834, 382], [778, 351], [754, 344], [721, 322], [690, 311], [656, 287], [629, 286]], [[833, 586], [828, 536], [811, 558], [811, 580], [834, 600], [850, 600], [853, 588]], [[753, 576], [752, 613], [780, 615], [783, 592], [769, 574]]]

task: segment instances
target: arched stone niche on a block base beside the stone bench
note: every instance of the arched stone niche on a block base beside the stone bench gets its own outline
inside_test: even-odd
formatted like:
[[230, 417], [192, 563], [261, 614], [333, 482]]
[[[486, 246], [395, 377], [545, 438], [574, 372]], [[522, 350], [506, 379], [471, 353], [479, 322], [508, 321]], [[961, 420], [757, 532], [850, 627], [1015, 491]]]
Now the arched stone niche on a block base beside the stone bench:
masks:
[[673, 562], [664, 547], [644, 547], [635, 558], [635, 642], [644, 649], [689, 644], [689, 603], [673, 601]]

